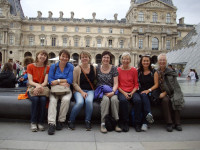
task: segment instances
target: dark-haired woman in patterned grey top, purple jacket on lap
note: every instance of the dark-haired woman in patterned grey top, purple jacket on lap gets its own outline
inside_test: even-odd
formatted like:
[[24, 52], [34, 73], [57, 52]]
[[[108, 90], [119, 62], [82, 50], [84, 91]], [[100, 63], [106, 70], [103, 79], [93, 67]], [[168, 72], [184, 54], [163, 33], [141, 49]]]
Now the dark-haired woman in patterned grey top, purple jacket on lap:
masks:
[[[118, 122], [119, 120], [119, 100], [118, 93], [118, 71], [117, 68], [110, 64], [112, 54], [104, 51], [101, 55], [101, 65], [97, 66], [97, 89], [95, 98], [101, 99], [101, 132], [107, 133], [105, 127], [105, 116], [109, 114], [111, 107], [111, 116]], [[118, 125], [115, 131], [121, 132]]]

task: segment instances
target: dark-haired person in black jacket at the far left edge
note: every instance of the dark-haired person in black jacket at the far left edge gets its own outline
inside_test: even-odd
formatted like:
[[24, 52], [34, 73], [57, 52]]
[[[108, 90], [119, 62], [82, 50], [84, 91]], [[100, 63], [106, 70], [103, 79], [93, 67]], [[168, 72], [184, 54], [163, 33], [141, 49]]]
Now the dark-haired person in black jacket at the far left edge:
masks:
[[0, 73], [0, 88], [14, 88], [16, 77], [11, 63], [5, 63]]

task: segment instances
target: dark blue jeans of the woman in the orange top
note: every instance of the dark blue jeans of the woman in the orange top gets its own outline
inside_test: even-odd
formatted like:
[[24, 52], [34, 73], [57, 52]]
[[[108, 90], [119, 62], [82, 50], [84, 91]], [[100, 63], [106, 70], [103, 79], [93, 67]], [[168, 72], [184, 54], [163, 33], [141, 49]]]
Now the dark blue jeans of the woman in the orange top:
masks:
[[46, 111], [46, 96], [30, 96], [28, 97], [32, 102], [31, 105], [31, 123], [42, 124], [44, 122], [45, 111]]

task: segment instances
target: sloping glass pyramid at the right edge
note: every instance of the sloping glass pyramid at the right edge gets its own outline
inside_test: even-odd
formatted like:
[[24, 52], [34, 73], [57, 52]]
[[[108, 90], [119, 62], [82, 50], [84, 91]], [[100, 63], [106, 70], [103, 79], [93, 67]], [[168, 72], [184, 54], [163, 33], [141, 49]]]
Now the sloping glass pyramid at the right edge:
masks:
[[196, 69], [200, 73], [200, 23], [176, 45], [173, 51], [167, 53], [170, 64], [186, 64], [183, 74], [189, 69]]

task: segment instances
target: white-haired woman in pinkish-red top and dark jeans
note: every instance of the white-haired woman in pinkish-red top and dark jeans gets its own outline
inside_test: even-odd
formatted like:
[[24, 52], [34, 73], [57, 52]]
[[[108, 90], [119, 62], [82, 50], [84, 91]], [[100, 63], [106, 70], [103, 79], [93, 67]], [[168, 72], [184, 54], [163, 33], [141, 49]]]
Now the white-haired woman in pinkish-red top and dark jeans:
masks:
[[141, 132], [141, 111], [142, 111], [142, 101], [138, 93], [138, 72], [134, 67], [130, 66], [131, 56], [129, 53], [125, 52], [121, 57], [122, 65], [118, 67], [118, 99], [119, 105], [119, 119], [120, 127], [124, 132], [129, 131], [129, 109], [128, 105], [130, 102], [134, 103], [135, 112], [135, 130], [136, 132]]

